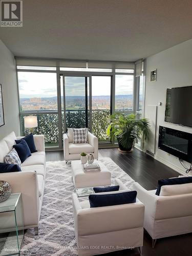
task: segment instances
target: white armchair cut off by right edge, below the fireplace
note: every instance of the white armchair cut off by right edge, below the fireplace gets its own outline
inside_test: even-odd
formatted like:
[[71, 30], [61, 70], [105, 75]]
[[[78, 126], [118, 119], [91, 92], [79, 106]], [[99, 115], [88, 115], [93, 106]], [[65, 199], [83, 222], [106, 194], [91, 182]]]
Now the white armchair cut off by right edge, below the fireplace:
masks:
[[192, 232], [192, 183], [162, 186], [160, 196], [137, 182], [131, 188], [145, 205], [144, 228], [153, 239], [153, 247], [158, 238]]

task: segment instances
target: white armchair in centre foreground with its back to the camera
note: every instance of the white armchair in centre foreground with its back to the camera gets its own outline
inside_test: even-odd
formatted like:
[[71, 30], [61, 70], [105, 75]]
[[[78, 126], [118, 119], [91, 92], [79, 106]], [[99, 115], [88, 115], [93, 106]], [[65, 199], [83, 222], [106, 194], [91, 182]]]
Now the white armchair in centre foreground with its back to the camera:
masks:
[[[118, 179], [119, 190], [130, 191]], [[119, 191], [107, 194], [119, 193]], [[106, 193], [99, 193], [106, 194]], [[142, 255], [144, 205], [136, 203], [90, 208], [72, 195], [75, 238], [78, 255], [90, 256], [125, 248], [139, 247]], [[113, 247], [112, 247], [113, 246]]]

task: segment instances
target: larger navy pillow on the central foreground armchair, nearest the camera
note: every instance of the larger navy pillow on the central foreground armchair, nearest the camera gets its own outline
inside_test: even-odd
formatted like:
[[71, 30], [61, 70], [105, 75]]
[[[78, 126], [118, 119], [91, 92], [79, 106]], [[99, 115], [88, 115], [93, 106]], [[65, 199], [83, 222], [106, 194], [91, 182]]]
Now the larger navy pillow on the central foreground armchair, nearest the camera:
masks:
[[89, 195], [90, 207], [102, 207], [119, 204], [135, 203], [137, 197], [137, 191], [127, 191], [117, 194], [106, 195]]

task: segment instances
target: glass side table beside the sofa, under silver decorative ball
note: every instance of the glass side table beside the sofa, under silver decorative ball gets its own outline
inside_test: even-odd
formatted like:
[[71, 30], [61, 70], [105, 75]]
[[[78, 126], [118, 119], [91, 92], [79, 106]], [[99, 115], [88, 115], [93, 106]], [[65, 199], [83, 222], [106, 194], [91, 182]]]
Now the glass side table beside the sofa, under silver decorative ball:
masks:
[[0, 203], [0, 256], [20, 255], [24, 238], [23, 203], [20, 193]]

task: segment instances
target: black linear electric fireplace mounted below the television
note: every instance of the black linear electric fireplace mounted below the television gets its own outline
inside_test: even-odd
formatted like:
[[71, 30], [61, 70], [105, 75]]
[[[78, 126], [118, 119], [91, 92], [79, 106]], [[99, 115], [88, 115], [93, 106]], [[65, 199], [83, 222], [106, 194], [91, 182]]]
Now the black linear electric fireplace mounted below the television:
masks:
[[192, 134], [159, 126], [158, 148], [190, 163], [192, 161]]

